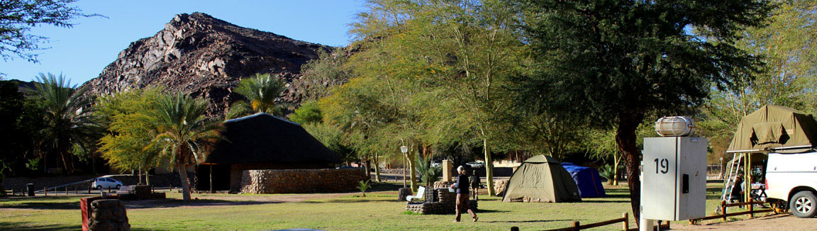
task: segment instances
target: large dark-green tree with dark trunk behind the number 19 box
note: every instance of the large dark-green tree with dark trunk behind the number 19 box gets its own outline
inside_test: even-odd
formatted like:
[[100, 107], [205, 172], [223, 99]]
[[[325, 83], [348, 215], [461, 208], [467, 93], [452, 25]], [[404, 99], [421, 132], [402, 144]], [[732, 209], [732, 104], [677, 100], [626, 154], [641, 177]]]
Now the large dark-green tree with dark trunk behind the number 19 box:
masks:
[[[698, 106], [761, 64], [735, 47], [762, 26], [766, 1], [525, 1], [521, 29], [538, 73], [522, 78], [522, 104], [616, 128], [632, 211], [639, 211], [636, 129], [647, 113]], [[694, 29], [692, 33], [690, 29]], [[634, 212], [636, 219], [638, 213]]]

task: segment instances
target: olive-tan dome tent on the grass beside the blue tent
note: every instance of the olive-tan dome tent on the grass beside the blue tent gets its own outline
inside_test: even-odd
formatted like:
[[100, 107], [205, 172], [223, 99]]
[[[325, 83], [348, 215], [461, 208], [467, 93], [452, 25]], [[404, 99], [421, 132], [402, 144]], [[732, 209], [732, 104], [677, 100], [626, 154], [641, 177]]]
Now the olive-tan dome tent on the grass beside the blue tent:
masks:
[[576, 182], [556, 159], [528, 158], [508, 180], [502, 202], [579, 202]]

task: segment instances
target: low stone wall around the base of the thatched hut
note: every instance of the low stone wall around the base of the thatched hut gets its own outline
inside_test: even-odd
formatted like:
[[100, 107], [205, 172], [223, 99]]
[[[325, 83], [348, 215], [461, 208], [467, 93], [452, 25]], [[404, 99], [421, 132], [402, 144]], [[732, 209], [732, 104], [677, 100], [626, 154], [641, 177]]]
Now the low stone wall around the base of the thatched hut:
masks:
[[337, 193], [357, 190], [363, 168], [247, 170], [241, 193]]

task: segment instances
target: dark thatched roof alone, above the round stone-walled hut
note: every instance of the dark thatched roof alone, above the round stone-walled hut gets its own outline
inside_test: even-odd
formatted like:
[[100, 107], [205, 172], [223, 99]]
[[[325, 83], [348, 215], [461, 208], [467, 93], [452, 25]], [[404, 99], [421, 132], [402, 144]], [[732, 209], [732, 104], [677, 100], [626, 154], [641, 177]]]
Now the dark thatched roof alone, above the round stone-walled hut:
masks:
[[231, 119], [224, 122], [221, 135], [205, 162], [238, 164], [340, 163], [332, 150], [312, 137], [301, 125], [267, 113]]

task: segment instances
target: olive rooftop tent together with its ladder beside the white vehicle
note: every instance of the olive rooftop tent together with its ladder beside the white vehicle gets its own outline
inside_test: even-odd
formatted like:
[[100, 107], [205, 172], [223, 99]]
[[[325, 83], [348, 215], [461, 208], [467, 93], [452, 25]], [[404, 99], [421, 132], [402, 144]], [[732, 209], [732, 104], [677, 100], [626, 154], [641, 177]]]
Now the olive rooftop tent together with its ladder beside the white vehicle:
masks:
[[[750, 179], [752, 170], [766, 168], [767, 154], [802, 153], [814, 148], [817, 122], [810, 114], [784, 106], [766, 105], [741, 119], [726, 153], [734, 153], [729, 161], [729, 175], [724, 181], [722, 200], [731, 198], [730, 186], [739, 172]], [[761, 170], [762, 172], [766, 172]], [[761, 182], [763, 177], [761, 177]], [[748, 198], [748, 190], [745, 190]]]

